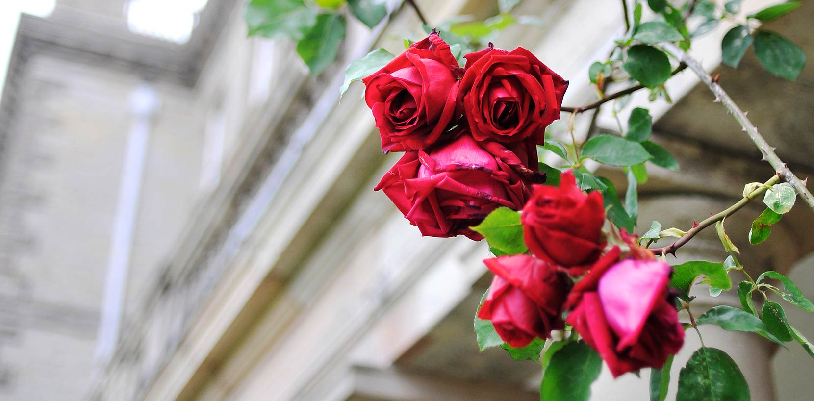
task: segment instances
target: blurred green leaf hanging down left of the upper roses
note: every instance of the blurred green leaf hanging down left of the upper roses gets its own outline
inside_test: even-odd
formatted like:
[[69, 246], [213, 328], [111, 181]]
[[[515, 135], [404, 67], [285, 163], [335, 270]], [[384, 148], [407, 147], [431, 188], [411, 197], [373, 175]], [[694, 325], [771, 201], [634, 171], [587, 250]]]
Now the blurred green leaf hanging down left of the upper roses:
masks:
[[317, 24], [297, 43], [297, 53], [308, 64], [312, 76], [318, 75], [334, 62], [339, 52], [339, 42], [344, 37], [343, 15], [317, 15]]

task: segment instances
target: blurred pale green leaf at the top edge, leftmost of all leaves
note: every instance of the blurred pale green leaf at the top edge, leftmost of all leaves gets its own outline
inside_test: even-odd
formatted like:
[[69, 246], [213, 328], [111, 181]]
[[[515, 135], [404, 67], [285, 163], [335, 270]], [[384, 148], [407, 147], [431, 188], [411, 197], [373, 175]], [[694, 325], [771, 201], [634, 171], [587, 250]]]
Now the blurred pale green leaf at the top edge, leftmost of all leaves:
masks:
[[317, 12], [303, 0], [252, 0], [244, 10], [248, 36], [300, 40], [317, 21]]

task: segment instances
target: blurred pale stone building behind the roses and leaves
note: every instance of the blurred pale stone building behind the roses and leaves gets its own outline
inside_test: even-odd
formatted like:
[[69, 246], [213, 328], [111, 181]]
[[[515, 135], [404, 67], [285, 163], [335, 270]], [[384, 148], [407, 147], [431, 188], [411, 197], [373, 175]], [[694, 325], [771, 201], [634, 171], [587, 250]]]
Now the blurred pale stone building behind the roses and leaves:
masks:
[[[433, 24], [497, 14], [496, 0], [417, 2]], [[624, 29], [608, 3], [525, 0], [516, 10], [542, 23], [507, 28], [496, 44], [527, 47], [570, 80], [567, 105], [589, 102], [588, 67]], [[772, 3], [745, 1], [743, 13]], [[421, 238], [374, 193], [398, 155], [379, 150], [360, 84], [339, 98], [350, 60], [422, 36], [400, 5], [388, 1], [392, 15], [372, 32], [350, 20], [339, 61], [314, 78], [290, 41], [247, 38], [242, 1], [0, 1], [0, 399], [538, 399], [538, 365], [478, 352], [486, 244]], [[770, 24], [812, 55], [812, 20], [804, 2]], [[751, 53], [737, 70], [719, 67], [731, 26], [694, 54], [810, 176], [814, 69], [783, 81]], [[651, 166], [639, 233], [651, 220], [686, 229], [772, 175], [690, 72], [667, 88], [672, 104], [646, 107], [681, 171]], [[599, 129], [618, 131], [605, 109]], [[598, 173], [623, 187], [621, 170]], [[814, 215], [799, 204], [750, 246], [762, 209], [727, 220], [742, 261], [788, 273], [811, 298]], [[724, 259], [707, 231], [676, 263]], [[697, 290], [698, 307], [711, 306]], [[733, 291], [714, 302], [739, 305]], [[786, 311], [814, 338], [814, 317]], [[733, 355], [753, 400], [812, 399], [814, 360], [796, 343], [702, 332]], [[668, 399], [697, 347], [688, 333]], [[649, 399], [641, 377], [604, 371], [593, 399]]]

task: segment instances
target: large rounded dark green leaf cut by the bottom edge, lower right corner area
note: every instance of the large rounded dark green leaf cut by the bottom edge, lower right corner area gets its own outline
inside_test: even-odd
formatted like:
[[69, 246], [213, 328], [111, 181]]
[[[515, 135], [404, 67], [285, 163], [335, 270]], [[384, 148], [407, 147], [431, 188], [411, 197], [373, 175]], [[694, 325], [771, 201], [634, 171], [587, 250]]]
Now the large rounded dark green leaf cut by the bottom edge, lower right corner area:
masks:
[[681, 368], [676, 401], [750, 401], [749, 385], [726, 352], [701, 347]]

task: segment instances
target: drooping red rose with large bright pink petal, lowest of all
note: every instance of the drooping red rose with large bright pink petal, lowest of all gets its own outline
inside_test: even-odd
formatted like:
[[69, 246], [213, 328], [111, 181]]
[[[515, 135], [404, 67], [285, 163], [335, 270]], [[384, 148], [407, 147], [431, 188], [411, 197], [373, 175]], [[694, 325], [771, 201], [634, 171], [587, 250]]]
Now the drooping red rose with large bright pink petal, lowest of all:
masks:
[[597, 350], [614, 377], [661, 368], [684, 345], [684, 329], [667, 294], [671, 272], [657, 260], [625, 259], [610, 268], [592, 268], [575, 285], [578, 295], [568, 299], [567, 307], [574, 310], [566, 321]]

